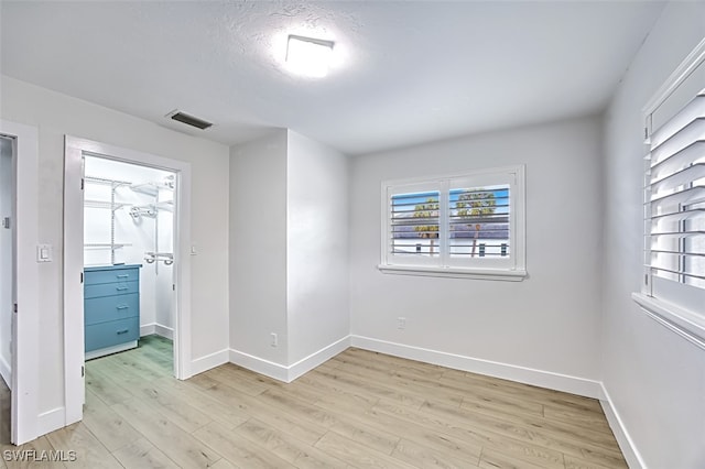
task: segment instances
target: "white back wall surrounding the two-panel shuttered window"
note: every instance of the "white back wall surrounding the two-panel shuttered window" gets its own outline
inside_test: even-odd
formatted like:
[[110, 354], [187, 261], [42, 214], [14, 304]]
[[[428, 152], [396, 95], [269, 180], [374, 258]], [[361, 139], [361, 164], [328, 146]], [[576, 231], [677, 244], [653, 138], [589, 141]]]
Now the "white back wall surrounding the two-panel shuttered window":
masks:
[[[352, 343], [361, 336], [372, 339], [366, 345], [392, 352], [597, 394], [600, 139], [599, 120], [585, 118], [354, 159]], [[382, 181], [512, 164], [527, 165], [528, 279], [438, 279], [377, 270]], [[406, 318], [404, 330], [397, 328], [400, 316]]]

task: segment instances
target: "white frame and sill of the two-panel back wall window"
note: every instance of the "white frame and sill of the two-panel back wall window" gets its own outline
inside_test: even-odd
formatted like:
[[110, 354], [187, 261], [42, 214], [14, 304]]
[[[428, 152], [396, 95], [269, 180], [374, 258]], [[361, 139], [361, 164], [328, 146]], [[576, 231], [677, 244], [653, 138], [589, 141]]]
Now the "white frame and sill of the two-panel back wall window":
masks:
[[[509, 255], [503, 259], [475, 258], [463, 260], [448, 255], [447, 239], [443, 226], [448, 227], [448, 194], [459, 187], [509, 185]], [[380, 264], [382, 273], [401, 275], [447, 276], [498, 281], [522, 281], [527, 276], [525, 257], [525, 167], [512, 165], [482, 168], [433, 177], [416, 177], [382, 182], [381, 187], [381, 242]], [[391, 198], [397, 194], [440, 192], [440, 228], [437, 257], [400, 257], [390, 252]]]

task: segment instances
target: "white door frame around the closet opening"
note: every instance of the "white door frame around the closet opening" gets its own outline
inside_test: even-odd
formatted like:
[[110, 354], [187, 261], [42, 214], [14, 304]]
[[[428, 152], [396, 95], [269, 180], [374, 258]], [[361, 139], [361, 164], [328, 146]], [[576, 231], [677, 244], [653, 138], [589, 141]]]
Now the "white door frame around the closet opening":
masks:
[[149, 166], [176, 176], [174, 205], [174, 377], [191, 378], [191, 164], [65, 137], [64, 153], [64, 361], [66, 425], [83, 418], [84, 380], [84, 195], [83, 156]]

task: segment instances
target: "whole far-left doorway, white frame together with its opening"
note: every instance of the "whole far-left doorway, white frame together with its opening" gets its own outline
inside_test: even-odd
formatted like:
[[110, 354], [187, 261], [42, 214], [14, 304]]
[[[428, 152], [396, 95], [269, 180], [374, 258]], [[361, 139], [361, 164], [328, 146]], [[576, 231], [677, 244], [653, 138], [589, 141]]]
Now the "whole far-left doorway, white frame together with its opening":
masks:
[[21, 445], [36, 438], [39, 425], [37, 130], [0, 120], [0, 382], [7, 380], [0, 436], [8, 443], [9, 421], [9, 443]]

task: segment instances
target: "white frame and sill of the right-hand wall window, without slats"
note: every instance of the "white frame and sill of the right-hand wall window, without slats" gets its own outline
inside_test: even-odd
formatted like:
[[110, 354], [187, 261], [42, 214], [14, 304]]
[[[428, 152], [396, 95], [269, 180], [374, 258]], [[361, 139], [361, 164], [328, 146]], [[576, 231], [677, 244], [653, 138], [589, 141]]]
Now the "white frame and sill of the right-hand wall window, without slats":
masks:
[[[694, 77], [697, 84], [698, 77], [705, 70], [705, 39], [695, 47], [695, 50], [683, 61], [675, 72], [666, 79], [666, 81], [657, 91], [653, 98], [643, 109], [644, 119], [644, 137], [647, 149], [646, 154], [651, 148], [651, 133], [653, 120], [652, 116], [657, 112], [669, 98], [671, 98], [679, 87], [688, 78]], [[694, 75], [696, 74], [699, 75]], [[690, 88], [690, 86], [685, 87]], [[693, 96], [694, 97], [694, 96]], [[680, 106], [679, 106], [680, 107]], [[670, 114], [670, 113], [669, 113]], [[650, 161], [644, 162], [646, 179], [649, 179]], [[650, 221], [648, 220], [650, 208], [649, 181], [644, 181], [644, 265], [643, 282], [640, 292], [632, 293], [632, 299], [641, 307], [641, 310], [654, 319], [657, 323], [669, 328], [673, 332], [680, 335], [692, 343], [705, 349], [705, 290], [697, 288], [679, 282], [660, 279], [653, 275], [649, 268], [651, 254], [650, 240]]]

